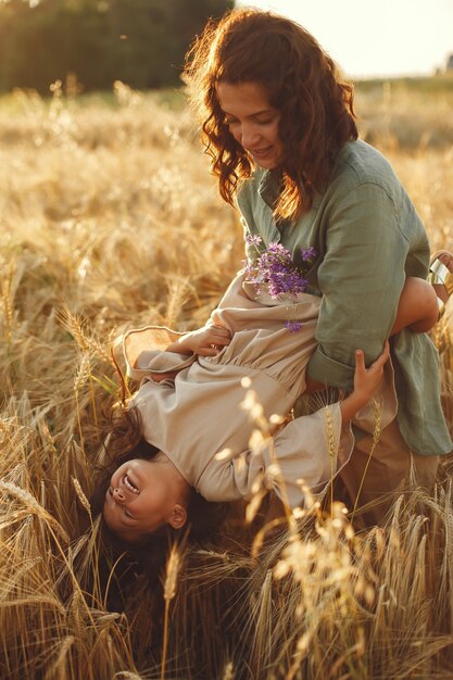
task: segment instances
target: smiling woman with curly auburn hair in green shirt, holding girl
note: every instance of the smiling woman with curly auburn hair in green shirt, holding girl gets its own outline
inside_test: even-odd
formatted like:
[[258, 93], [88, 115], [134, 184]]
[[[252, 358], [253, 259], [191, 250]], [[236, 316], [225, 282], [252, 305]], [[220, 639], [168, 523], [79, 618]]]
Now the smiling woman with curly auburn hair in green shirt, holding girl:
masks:
[[[376, 360], [405, 278], [428, 273], [428, 240], [410, 198], [382, 155], [357, 140], [351, 86], [298, 24], [235, 10], [207, 24], [185, 73], [219, 192], [241, 212], [248, 256], [255, 237], [263, 247], [281, 243], [295, 262], [302, 251], [316, 254], [307, 279], [322, 301], [309, 389], [351, 390], [355, 349]], [[453, 449], [430, 339], [403, 329], [391, 356], [397, 418], [377, 445], [354, 418], [354, 451], [341, 471], [353, 505], [373, 502], [373, 522], [412, 463], [428, 484], [439, 455]]]

